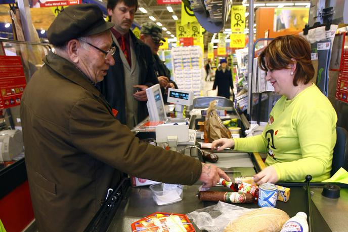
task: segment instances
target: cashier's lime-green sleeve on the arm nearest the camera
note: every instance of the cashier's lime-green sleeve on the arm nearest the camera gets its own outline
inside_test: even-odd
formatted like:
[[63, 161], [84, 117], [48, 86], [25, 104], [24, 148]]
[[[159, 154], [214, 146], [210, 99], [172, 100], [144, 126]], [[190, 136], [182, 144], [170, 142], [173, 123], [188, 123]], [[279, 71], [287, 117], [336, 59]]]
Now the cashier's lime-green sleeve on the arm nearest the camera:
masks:
[[336, 142], [335, 115], [329, 108], [312, 107], [298, 110], [295, 117], [302, 159], [273, 164], [279, 179], [301, 181], [308, 174], [315, 181], [329, 178]]

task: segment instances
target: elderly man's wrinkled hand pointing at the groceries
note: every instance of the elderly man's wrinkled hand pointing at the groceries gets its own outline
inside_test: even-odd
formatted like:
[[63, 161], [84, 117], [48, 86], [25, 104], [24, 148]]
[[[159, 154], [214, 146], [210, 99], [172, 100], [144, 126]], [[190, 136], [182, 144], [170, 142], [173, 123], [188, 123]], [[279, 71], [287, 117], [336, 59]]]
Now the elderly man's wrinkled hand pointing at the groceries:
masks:
[[202, 163], [202, 172], [199, 180], [203, 182], [202, 187], [209, 188], [219, 183], [220, 178], [230, 181], [230, 177], [220, 168], [212, 164]]

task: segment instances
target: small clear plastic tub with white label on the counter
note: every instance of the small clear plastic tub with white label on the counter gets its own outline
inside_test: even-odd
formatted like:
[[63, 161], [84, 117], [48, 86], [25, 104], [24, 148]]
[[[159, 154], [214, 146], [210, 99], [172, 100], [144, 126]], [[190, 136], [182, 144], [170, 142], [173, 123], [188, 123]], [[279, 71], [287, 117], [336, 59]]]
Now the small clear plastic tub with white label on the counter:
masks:
[[150, 185], [152, 198], [157, 205], [169, 205], [183, 200], [183, 186], [180, 184], [152, 184]]

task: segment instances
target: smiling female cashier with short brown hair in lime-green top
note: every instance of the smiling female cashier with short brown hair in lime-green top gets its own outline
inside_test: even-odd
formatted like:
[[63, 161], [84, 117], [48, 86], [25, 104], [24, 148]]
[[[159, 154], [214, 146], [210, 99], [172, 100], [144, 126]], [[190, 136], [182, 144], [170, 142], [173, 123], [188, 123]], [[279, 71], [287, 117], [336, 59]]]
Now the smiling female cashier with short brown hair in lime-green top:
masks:
[[[218, 139], [212, 147], [222, 150], [267, 152], [266, 166], [254, 176], [257, 184], [281, 181], [314, 181], [330, 177], [336, 143], [337, 115], [330, 101], [311, 83], [314, 68], [305, 38], [275, 38], [259, 56], [266, 80], [283, 95], [273, 107], [261, 135]], [[219, 147], [220, 146], [220, 147]]]

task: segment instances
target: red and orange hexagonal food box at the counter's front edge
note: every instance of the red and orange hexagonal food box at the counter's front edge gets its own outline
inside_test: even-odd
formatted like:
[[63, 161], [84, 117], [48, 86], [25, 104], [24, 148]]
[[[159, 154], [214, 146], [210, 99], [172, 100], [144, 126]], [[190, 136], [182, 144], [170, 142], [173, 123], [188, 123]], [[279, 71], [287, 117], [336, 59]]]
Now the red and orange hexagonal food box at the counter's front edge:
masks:
[[185, 214], [156, 212], [132, 223], [132, 231], [186, 231], [194, 232]]

